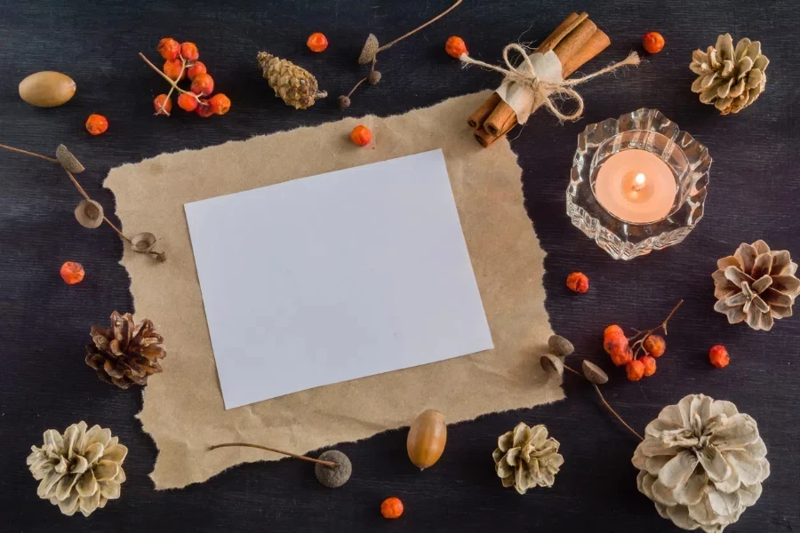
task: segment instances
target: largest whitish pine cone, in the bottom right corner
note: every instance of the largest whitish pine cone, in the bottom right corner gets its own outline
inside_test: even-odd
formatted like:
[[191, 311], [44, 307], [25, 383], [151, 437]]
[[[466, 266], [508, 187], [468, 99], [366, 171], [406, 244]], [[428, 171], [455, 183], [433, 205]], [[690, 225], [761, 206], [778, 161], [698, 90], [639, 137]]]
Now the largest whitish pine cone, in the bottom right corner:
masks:
[[663, 518], [720, 533], [761, 496], [766, 451], [756, 420], [731, 402], [689, 394], [647, 425], [632, 462], [639, 491]]

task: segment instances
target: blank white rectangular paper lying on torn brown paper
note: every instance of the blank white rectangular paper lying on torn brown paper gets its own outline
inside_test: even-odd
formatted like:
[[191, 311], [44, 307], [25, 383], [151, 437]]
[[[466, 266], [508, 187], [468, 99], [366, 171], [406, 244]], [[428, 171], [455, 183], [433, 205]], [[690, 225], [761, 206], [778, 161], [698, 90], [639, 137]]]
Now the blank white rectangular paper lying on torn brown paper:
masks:
[[492, 348], [441, 150], [184, 208], [226, 409]]

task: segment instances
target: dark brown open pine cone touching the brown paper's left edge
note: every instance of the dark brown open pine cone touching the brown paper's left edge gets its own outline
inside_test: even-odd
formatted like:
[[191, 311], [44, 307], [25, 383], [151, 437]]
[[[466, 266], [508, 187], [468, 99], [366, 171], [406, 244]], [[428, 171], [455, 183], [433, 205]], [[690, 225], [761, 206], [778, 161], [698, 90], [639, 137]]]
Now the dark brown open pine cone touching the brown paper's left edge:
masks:
[[86, 364], [97, 371], [103, 381], [120, 388], [147, 385], [148, 376], [162, 371], [159, 359], [166, 352], [161, 347], [164, 338], [154, 329], [153, 322], [144, 319], [134, 326], [130, 313], [111, 314], [111, 327], [92, 326], [91, 345]]

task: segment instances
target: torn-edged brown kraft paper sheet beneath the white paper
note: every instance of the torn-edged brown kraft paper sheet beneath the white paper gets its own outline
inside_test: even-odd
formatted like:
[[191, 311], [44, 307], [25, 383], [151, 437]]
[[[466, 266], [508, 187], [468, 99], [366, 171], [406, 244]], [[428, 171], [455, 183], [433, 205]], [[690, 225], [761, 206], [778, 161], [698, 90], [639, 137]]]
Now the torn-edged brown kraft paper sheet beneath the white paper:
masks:
[[[149, 380], [139, 414], [159, 449], [150, 474], [156, 489], [283, 457], [258, 449], [209, 451], [214, 443], [255, 442], [305, 453], [407, 426], [428, 408], [454, 423], [564, 397], [560, 382], [548, 381], [539, 364], [551, 334], [541, 285], [545, 254], [524, 211], [522, 171], [508, 140], [484, 149], [466, 124], [488, 94], [158, 155], [108, 174], [105, 186], [116, 195], [125, 233], [151, 231], [168, 254], [166, 263], [156, 264], [126, 247], [122, 259], [136, 316], [156, 322], [167, 350], [164, 373]], [[358, 123], [372, 130], [369, 147], [348, 139]], [[226, 411], [183, 204], [439, 147], [495, 348]]]

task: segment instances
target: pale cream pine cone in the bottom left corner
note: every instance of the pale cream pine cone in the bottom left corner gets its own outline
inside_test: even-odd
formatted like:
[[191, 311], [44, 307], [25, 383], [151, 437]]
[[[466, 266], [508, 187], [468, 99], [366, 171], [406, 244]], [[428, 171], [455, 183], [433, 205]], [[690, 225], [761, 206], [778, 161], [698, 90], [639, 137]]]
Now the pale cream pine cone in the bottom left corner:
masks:
[[87, 430], [85, 422], [69, 426], [63, 435], [48, 429], [42, 447], [31, 450], [30, 473], [41, 481], [36, 494], [58, 505], [61, 513], [72, 516], [80, 511], [89, 516], [119, 497], [128, 449], [111, 436], [110, 429]]

